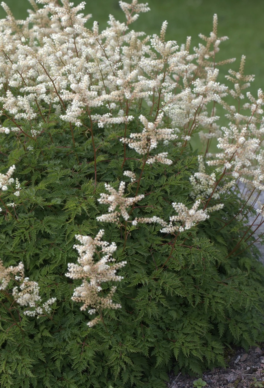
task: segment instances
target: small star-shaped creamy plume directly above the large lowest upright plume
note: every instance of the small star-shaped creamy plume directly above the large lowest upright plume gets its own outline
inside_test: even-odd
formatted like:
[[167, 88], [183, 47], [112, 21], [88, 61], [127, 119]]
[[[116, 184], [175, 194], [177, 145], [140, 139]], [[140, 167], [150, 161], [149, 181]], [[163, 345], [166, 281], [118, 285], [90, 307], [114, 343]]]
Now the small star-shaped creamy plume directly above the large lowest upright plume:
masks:
[[[141, 199], [144, 198], [144, 194], [140, 194], [136, 197], [124, 197], [125, 194], [125, 182], [121, 181], [119, 185], [118, 191], [113, 189], [111, 185], [105, 183], [104, 184], [107, 191], [110, 192], [109, 194], [101, 193], [101, 198], [97, 199], [99, 203], [106, 203], [109, 204], [108, 214], [102, 214], [99, 217], [96, 217], [97, 221], [102, 222], [118, 222], [120, 214], [122, 217], [127, 221], [129, 219], [129, 214], [127, 213], [127, 207], [137, 203]], [[114, 211], [116, 207], [120, 208], [120, 211]]]

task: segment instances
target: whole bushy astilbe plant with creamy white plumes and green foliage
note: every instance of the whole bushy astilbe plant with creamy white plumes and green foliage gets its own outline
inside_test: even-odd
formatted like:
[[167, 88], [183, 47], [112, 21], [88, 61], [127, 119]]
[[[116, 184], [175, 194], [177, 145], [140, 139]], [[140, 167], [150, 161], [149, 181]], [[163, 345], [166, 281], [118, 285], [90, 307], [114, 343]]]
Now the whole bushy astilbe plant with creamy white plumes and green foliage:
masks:
[[217, 81], [216, 15], [192, 50], [61, 3], [2, 3], [0, 385], [166, 387], [264, 340], [264, 95]]

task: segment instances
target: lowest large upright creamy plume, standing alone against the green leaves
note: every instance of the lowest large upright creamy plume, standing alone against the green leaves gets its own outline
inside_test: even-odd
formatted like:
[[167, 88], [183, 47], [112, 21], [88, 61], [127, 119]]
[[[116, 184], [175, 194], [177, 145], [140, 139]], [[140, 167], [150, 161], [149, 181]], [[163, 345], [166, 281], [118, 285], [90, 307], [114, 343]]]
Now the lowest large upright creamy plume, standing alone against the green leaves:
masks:
[[[78, 264], [68, 263], [68, 272], [65, 276], [71, 279], [83, 279], [83, 283], [80, 287], [74, 289], [72, 300], [76, 302], [83, 302], [80, 310], [87, 310], [88, 306], [91, 306], [88, 312], [94, 314], [96, 311], [100, 311], [102, 308], [121, 308], [118, 303], [113, 303], [112, 296], [116, 290], [116, 287], [112, 287], [106, 297], [98, 295], [102, 291], [100, 284], [108, 281], [121, 281], [122, 276], [116, 275], [116, 270], [123, 267], [127, 262], [122, 261], [113, 265], [108, 265], [109, 262], [115, 261], [111, 255], [116, 251], [116, 244], [112, 242], [101, 241], [104, 235], [104, 229], [99, 230], [96, 237], [92, 239], [89, 236], [76, 235], [76, 239], [81, 242], [82, 245], [74, 245], [79, 253]], [[101, 247], [102, 253], [105, 255], [97, 262], [94, 261], [94, 254], [99, 256], [99, 252], [96, 247]], [[88, 281], [89, 280], [89, 281]], [[99, 322], [100, 317], [96, 317], [92, 321], [88, 322], [89, 327], [94, 326]]]

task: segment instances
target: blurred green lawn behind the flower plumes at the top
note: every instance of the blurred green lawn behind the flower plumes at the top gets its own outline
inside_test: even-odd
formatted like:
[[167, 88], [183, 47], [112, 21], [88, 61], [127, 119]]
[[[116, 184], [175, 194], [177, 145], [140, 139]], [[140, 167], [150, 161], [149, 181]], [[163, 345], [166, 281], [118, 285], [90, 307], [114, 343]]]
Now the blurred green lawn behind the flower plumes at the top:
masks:
[[[17, 19], [24, 19], [28, 15], [27, 9], [31, 8], [28, 0], [5, 0], [5, 2]], [[77, 5], [80, 0], [73, 2]], [[185, 43], [186, 36], [191, 36], [192, 47], [201, 42], [198, 38], [199, 33], [208, 35], [212, 31], [212, 19], [216, 13], [219, 35], [229, 37], [228, 41], [221, 43], [216, 59], [221, 61], [236, 57], [233, 64], [221, 66], [219, 81], [226, 82], [224, 75], [228, 73], [229, 68], [238, 70], [241, 55], [244, 54], [247, 57], [245, 73], [255, 74], [255, 81], [248, 90], [256, 96], [259, 88], [264, 89], [263, 0], [149, 0], [148, 5], [151, 11], [141, 14], [131, 28], [149, 35], [158, 34], [162, 22], [167, 20], [167, 40], [177, 40], [181, 45]], [[109, 14], [120, 21], [125, 21], [118, 0], [93, 2], [87, 0], [84, 13], [92, 14], [92, 19], [87, 23], [88, 28], [92, 27], [94, 20], [99, 22], [99, 29], [106, 28]], [[4, 17], [5, 11], [0, 7], [0, 18]], [[226, 123], [221, 120], [220, 124]]]

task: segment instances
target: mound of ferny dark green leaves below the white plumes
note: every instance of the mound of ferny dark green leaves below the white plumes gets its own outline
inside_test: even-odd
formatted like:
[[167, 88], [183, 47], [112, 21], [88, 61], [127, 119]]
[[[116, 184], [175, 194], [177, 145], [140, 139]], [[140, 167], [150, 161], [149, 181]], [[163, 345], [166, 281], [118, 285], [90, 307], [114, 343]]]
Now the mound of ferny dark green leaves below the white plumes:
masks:
[[[141, 109], [135, 116], [141, 113], [146, 115]], [[131, 132], [138, 125], [134, 120]], [[94, 125], [96, 186], [91, 138], [81, 127], [75, 128], [74, 148], [71, 132], [55, 114], [26, 145], [23, 135], [0, 137], [1, 164], [17, 166], [22, 187], [14, 211], [0, 215], [0, 258], [5, 267], [22, 261], [41, 298], [57, 298], [52, 314], [30, 317], [12, 297], [15, 278], [1, 290], [0, 385], [5, 388], [165, 388], [169, 372], [198, 376], [225, 365], [226, 346], [247, 350], [264, 340], [264, 268], [257, 248], [246, 249], [254, 238], [241, 243], [243, 252], [226, 258], [246, 230], [247, 220], [237, 218], [221, 229], [245, 204], [237, 190], [213, 199], [224, 208], [176, 242], [160, 225], [138, 223], [130, 225], [123, 249], [124, 227], [96, 220], [107, 212], [97, 201], [106, 192], [104, 182], [117, 190], [124, 180], [125, 194], [136, 195], [121, 168], [123, 132], [124, 124]], [[167, 150], [172, 165], [145, 166], [137, 193], [145, 197], [133, 217], [168, 220], [175, 214], [173, 202], [192, 206], [189, 178], [198, 171], [197, 151], [186, 147], [181, 153], [173, 142]], [[140, 173], [140, 162], [127, 148], [124, 169]], [[11, 191], [3, 194], [5, 203], [14, 201]], [[89, 327], [93, 316], [71, 300], [80, 280], [65, 273], [68, 263], [77, 262], [75, 235], [94, 237], [100, 228], [104, 240], [117, 245], [116, 262], [127, 264], [118, 270], [124, 279], [113, 294], [122, 308], [104, 309], [102, 320]], [[102, 296], [110, 286], [103, 284]]]

